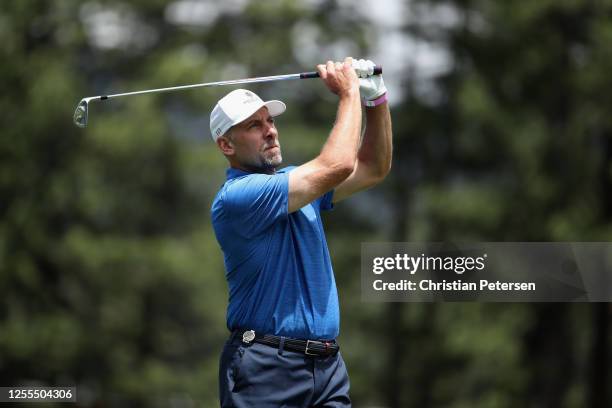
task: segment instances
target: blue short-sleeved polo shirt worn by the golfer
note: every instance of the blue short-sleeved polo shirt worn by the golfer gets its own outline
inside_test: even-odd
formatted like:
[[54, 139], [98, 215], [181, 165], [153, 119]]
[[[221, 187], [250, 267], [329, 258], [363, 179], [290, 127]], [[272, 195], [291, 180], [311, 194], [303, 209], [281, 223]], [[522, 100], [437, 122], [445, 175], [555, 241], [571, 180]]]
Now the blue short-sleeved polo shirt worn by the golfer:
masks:
[[333, 191], [288, 213], [289, 172], [227, 170], [212, 204], [225, 257], [227, 326], [300, 339], [333, 339], [338, 293], [321, 210]]

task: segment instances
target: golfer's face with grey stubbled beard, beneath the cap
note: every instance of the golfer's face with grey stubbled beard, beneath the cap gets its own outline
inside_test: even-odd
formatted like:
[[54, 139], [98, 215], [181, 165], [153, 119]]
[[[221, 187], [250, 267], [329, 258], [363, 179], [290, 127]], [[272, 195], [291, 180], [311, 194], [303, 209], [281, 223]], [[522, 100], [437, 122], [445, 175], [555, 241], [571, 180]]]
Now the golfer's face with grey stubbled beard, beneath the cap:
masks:
[[232, 159], [239, 167], [270, 172], [282, 163], [278, 131], [265, 106], [230, 132], [229, 140], [234, 147]]

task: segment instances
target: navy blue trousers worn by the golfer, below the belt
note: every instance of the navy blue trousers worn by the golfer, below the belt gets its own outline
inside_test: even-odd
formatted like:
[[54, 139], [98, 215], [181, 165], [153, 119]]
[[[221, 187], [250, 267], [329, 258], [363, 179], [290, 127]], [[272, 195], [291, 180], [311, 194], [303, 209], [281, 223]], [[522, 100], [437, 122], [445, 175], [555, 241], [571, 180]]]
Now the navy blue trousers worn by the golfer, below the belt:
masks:
[[237, 336], [225, 343], [219, 366], [221, 407], [350, 407], [340, 353], [307, 356]]

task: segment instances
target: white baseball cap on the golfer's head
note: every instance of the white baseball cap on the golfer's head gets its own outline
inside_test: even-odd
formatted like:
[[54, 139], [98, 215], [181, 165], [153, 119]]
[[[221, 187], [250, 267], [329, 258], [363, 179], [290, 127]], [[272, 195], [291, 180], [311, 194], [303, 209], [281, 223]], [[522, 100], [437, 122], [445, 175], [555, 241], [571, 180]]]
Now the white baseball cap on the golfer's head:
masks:
[[210, 134], [213, 140], [216, 142], [229, 128], [247, 119], [262, 106], [268, 108], [272, 116], [278, 116], [287, 109], [281, 101], [264, 102], [246, 89], [236, 89], [219, 99], [210, 113]]

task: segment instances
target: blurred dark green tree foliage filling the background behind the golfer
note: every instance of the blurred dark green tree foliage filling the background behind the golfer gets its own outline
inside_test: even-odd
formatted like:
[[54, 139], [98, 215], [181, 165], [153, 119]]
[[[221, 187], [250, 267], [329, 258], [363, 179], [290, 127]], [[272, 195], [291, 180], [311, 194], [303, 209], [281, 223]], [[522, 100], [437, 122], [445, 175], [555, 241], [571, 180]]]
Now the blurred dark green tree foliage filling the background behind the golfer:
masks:
[[[607, 305], [363, 303], [358, 274], [367, 241], [610, 240], [611, 6], [404, 5], [405, 38], [452, 64], [425, 92], [404, 72], [390, 177], [325, 218], [355, 405], [609, 406]], [[208, 209], [225, 162], [208, 112], [227, 89], [93, 103], [85, 130], [74, 107], [368, 55], [376, 30], [357, 11], [0, 4], [1, 385], [76, 385], [79, 406], [217, 405], [227, 289]], [[289, 106], [286, 161], [316, 155], [334, 119], [320, 83], [252, 89]]]

